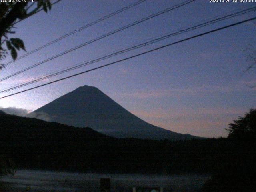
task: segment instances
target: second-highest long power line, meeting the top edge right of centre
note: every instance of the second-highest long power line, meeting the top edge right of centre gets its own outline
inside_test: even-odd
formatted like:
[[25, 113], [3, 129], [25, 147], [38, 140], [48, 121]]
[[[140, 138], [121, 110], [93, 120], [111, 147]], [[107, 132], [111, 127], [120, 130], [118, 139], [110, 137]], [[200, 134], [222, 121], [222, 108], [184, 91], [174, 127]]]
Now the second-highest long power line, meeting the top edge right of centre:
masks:
[[118, 28], [118, 29], [116, 29], [116, 30], [114, 30], [114, 31], [112, 31], [112, 32], [109, 32], [109, 33], [107, 33], [107, 34], [104, 34], [104, 35], [102, 35], [102, 36], [99, 36], [99, 37], [97, 37], [97, 38], [95, 38], [95, 39], [92, 39], [92, 40], [90, 40], [90, 41], [88, 41], [88, 42], [85, 42], [85, 43], [83, 43], [83, 44], [80, 44], [80, 45], [78, 45], [78, 46], [76, 46], [76, 47], [74, 47], [74, 48], [71, 48], [71, 49], [69, 49], [69, 50], [66, 50], [66, 51], [64, 51], [64, 52], [62, 52], [62, 53], [60, 53], [60, 54], [57, 54], [57, 55], [55, 55], [55, 56], [52, 56], [51, 58], [48, 58], [48, 59], [43, 60], [43, 61], [41, 61], [41, 62], [39, 62], [39, 63], [37, 63], [37, 64], [34, 64], [34, 65], [32, 65], [32, 66], [30, 66], [30, 67], [28, 67], [28, 68], [25, 68], [25, 69], [23, 69], [23, 70], [20, 70], [20, 71], [14, 73], [14, 74], [9, 75], [9, 76], [6, 76], [6, 77], [0, 79], [0, 82], [3, 81], [3, 80], [6, 80], [6, 79], [8, 79], [8, 78], [10, 78], [10, 77], [12, 77], [12, 76], [15, 76], [15, 75], [17, 75], [17, 74], [20, 74], [20, 73], [22, 73], [22, 72], [24, 72], [24, 71], [30, 70], [30, 69], [32, 69], [32, 68], [34, 68], [34, 67], [36, 67], [36, 66], [39, 66], [39, 65], [41, 65], [41, 64], [43, 64], [43, 63], [45, 63], [45, 62], [48, 62], [48, 61], [53, 60], [53, 59], [55, 59], [55, 58], [58, 58], [58, 57], [60, 57], [60, 56], [62, 56], [62, 55], [65, 55], [65, 54], [67, 54], [67, 53], [69, 53], [69, 52], [72, 52], [72, 51], [74, 51], [74, 50], [76, 50], [76, 49], [79, 49], [79, 48], [81, 48], [81, 47], [83, 47], [83, 46], [86, 46], [86, 45], [91, 44], [91, 43], [93, 43], [93, 42], [95, 42], [95, 41], [98, 41], [98, 40], [100, 40], [100, 39], [102, 39], [102, 38], [105, 38], [105, 37], [107, 37], [107, 36], [110, 36], [110, 35], [112, 35], [112, 34], [115, 34], [115, 33], [117, 33], [117, 32], [120, 32], [120, 31], [125, 30], [125, 29], [127, 29], [127, 28], [130, 28], [130, 27], [132, 27], [132, 26], [134, 26], [134, 25], [137, 25], [137, 24], [142, 23], [142, 22], [144, 22], [144, 21], [146, 21], [146, 20], [149, 20], [149, 19], [151, 19], [151, 18], [154, 18], [154, 17], [156, 17], [156, 16], [159, 16], [159, 15], [161, 15], [161, 14], [164, 14], [164, 13], [166, 13], [166, 12], [169, 12], [169, 11], [171, 11], [171, 10], [174, 10], [174, 9], [176, 9], [176, 8], [179, 8], [179, 7], [181, 7], [181, 6], [184, 6], [184, 5], [186, 5], [186, 4], [192, 3], [192, 2], [194, 2], [194, 1], [196, 1], [196, 0], [187, 0], [187, 1], [185, 1], [185, 2], [182, 2], [182, 3], [180, 3], [180, 4], [177, 4], [177, 5], [172, 6], [172, 7], [170, 7], [170, 8], [167, 8], [167, 9], [165, 9], [165, 10], [162, 10], [162, 11], [160, 11], [160, 12], [157, 12], [156, 14], [152, 14], [152, 15], [150, 15], [150, 16], [148, 16], [148, 17], [145, 17], [145, 18], [142, 18], [142, 19], [140, 19], [140, 20], [138, 20], [138, 21], [136, 21], [136, 22], [133, 22], [133, 23], [131, 23], [131, 24], [128, 24], [128, 25], [126, 25], [126, 26], [123, 26], [123, 27], [121, 27], [121, 28]]

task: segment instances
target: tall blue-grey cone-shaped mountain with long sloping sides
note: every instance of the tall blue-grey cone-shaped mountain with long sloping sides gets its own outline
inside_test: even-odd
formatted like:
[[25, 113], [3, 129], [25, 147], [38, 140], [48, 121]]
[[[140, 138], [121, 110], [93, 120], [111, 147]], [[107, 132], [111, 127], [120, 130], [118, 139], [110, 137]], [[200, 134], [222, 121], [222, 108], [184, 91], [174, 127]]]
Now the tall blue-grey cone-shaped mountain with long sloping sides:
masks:
[[149, 124], [92, 86], [79, 87], [28, 114], [28, 117], [76, 127], [89, 126], [98, 132], [117, 138], [155, 140], [199, 138]]

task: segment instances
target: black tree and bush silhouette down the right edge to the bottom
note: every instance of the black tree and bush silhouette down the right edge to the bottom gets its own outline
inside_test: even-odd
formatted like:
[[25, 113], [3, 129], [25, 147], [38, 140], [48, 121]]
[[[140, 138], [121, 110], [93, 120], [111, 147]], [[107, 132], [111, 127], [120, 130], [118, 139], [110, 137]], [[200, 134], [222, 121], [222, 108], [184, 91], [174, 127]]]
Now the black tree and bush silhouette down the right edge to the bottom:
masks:
[[204, 184], [201, 192], [256, 191], [256, 109], [250, 109], [229, 126], [229, 162], [218, 169], [218, 174]]

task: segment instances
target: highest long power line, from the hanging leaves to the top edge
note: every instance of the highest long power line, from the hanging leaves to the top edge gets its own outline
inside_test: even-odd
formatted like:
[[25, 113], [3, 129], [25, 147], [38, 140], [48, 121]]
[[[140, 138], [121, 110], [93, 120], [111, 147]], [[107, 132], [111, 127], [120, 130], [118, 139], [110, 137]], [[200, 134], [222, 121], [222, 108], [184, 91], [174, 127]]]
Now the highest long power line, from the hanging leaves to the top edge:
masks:
[[[59, 1], [60, 1], [60, 0], [59, 0]], [[91, 22], [91, 23], [89, 23], [89, 24], [86, 24], [85, 26], [82, 26], [82, 27], [80, 27], [80, 28], [78, 28], [78, 29], [76, 29], [76, 30], [74, 30], [74, 31], [72, 31], [72, 32], [69, 32], [69, 33], [67, 33], [67, 34], [65, 34], [65, 35], [63, 35], [63, 36], [61, 36], [61, 37], [59, 37], [59, 38], [57, 38], [57, 39], [55, 39], [55, 40], [52, 40], [51, 42], [48, 42], [48, 43], [46, 43], [46, 44], [44, 44], [44, 45], [42, 45], [42, 46], [40, 46], [40, 47], [38, 47], [38, 48], [36, 48], [36, 49], [34, 49], [34, 50], [32, 50], [32, 51], [26, 53], [26, 54], [24, 54], [24, 55], [22, 55], [22, 56], [16, 58], [16, 60], [12, 60], [12, 61], [10, 61], [10, 62], [4, 64], [4, 66], [8, 66], [9, 64], [16, 62], [17, 60], [20, 60], [20, 59], [22, 59], [22, 58], [24, 58], [24, 57], [26, 57], [26, 56], [28, 56], [28, 55], [34, 53], [34, 52], [37, 52], [37, 51], [39, 51], [39, 50], [41, 50], [41, 49], [43, 49], [43, 48], [46, 48], [47, 46], [49, 46], [49, 45], [51, 45], [51, 44], [54, 44], [54, 43], [56, 43], [56, 42], [58, 42], [58, 41], [60, 41], [60, 40], [62, 40], [62, 39], [64, 39], [64, 38], [67, 38], [68, 36], [70, 36], [70, 35], [72, 35], [72, 34], [75, 34], [75, 33], [79, 32], [79, 31], [81, 31], [81, 30], [84, 30], [85, 28], [88, 28], [88, 27], [90, 27], [90, 26], [93, 26], [94, 24], [97, 24], [97, 23], [99, 23], [99, 22], [101, 22], [101, 21], [104, 21], [104, 20], [106, 20], [106, 19], [108, 19], [108, 18], [110, 18], [110, 17], [112, 17], [112, 16], [115, 16], [116, 14], [119, 14], [119, 13], [125, 11], [125, 10], [128, 10], [128, 9], [130, 9], [130, 8], [132, 8], [132, 7], [134, 7], [134, 6], [138, 5], [138, 4], [140, 4], [140, 3], [142, 3], [142, 2], [145, 2], [145, 1], [147, 1], [147, 0], [139, 0], [139, 1], [135, 2], [135, 3], [132, 3], [132, 4], [128, 5], [128, 6], [126, 6], [126, 7], [121, 8], [120, 10], [117, 10], [117, 11], [115, 11], [115, 12], [112, 12], [112, 13], [110, 13], [110, 14], [108, 14], [108, 15], [106, 15], [106, 16], [104, 16], [104, 17], [98, 19], [98, 20], [95, 20], [95, 21], [93, 21], [93, 22]], [[16, 23], [17, 23], [17, 22], [16, 22]], [[15, 23], [15, 24], [16, 24], [16, 23]]]

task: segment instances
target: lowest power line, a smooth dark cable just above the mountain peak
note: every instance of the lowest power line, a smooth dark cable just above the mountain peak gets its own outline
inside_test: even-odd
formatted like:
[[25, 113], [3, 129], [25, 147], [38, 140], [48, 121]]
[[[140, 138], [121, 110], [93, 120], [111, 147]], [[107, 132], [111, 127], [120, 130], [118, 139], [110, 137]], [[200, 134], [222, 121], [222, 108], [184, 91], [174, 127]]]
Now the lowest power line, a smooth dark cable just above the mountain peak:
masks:
[[42, 87], [42, 86], [46, 86], [46, 85], [48, 85], [48, 84], [52, 84], [52, 83], [55, 83], [55, 82], [58, 82], [58, 81], [62, 81], [62, 80], [65, 80], [65, 79], [68, 79], [68, 78], [71, 78], [71, 77], [74, 77], [74, 76], [78, 76], [78, 75], [80, 75], [80, 74], [84, 74], [84, 73], [87, 73], [87, 72], [90, 72], [90, 71], [93, 71], [93, 70], [97, 70], [97, 69], [106, 67], [106, 66], [110, 66], [110, 65], [116, 64], [116, 63], [118, 63], [118, 62], [122, 62], [122, 61], [125, 61], [125, 60], [129, 60], [129, 59], [131, 59], [131, 58], [135, 58], [135, 57], [138, 57], [138, 56], [141, 56], [141, 55], [144, 55], [144, 54], [147, 54], [147, 53], [150, 53], [150, 52], [153, 52], [153, 51], [156, 51], [156, 50], [159, 50], [159, 49], [162, 49], [162, 48], [165, 48], [165, 47], [174, 45], [174, 44], [178, 44], [178, 43], [180, 43], [180, 42], [184, 42], [184, 41], [187, 41], [187, 40], [190, 40], [190, 39], [193, 39], [193, 38], [197, 38], [197, 37], [200, 37], [200, 36], [203, 36], [203, 35], [212, 33], [212, 32], [216, 32], [216, 31], [219, 31], [219, 30], [222, 30], [222, 29], [225, 29], [225, 28], [229, 28], [229, 27], [232, 27], [232, 26], [236, 26], [236, 25], [238, 25], [238, 24], [242, 24], [242, 23], [244, 23], [244, 22], [248, 22], [248, 21], [255, 20], [255, 19], [256, 19], [256, 17], [250, 18], [250, 19], [247, 19], [247, 20], [243, 20], [243, 21], [240, 21], [240, 22], [236, 22], [236, 23], [234, 23], [234, 24], [227, 25], [227, 26], [224, 26], [224, 27], [221, 27], [221, 28], [217, 28], [217, 29], [214, 29], [214, 30], [211, 30], [211, 31], [208, 31], [208, 32], [204, 32], [204, 33], [201, 33], [201, 34], [198, 34], [198, 35], [195, 35], [195, 36], [192, 36], [192, 37], [183, 39], [183, 40], [176, 41], [176, 42], [174, 42], [174, 43], [170, 43], [170, 44], [167, 44], [167, 45], [164, 45], [164, 46], [160, 46], [160, 47], [158, 47], [158, 48], [151, 49], [151, 50], [146, 51], [146, 52], [142, 52], [142, 53], [140, 53], [140, 54], [136, 54], [136, 55], [134, 55], [134, 56], [130, 56], [130, 57], [127, 57], [127, 58], [124, 58], [124, 59], [121, 59], [121, 60], [118, 60], [118, 61], [115, 61], [115, 62], [111, 62], [111, 63], [106, 64], [106, 65], [102, 65], [102, 66], [99, 66], [99, 67], [96, 67], [96, 68], [93, 68], [93, 69], [90, 69], [90, 70], [86, 70], [86, 71], [84, 71], [84, 72], [80, 72], [80, 73], [77, 73], [77, 74], [74, 74], [74, 75], [71, 75], [71, 76], [67, 76], [67, 77], [64, 77], [64, 78], [61, 78], [61, 79], [58, 79], [58, 80], [55, 80], [55, 81], [46, 83], [46, 84], [42, 84], [42, 85], [39, 85], [39, 86], [36, 86], [36, 87], [33, 87], [33, 88], [29, 88], [29, 89], [26, 89], [26, 90], [23, 90], [23, 91], [20, 91], [20, 92], [16, 92], [16, 93], [13, 93], [13, 94], [10, 94], [10, 95], [7, 95], [7, 96], [3, 96], [3, 97], [1, 97], [0, 99], [6, 98], [6, 97], [10, 97], [10, 96], [13, 96], [13, 95], [16, 95], [16, 94], [20, 94], [20, 93], [22, 93], [22, 92], [26, 92], [26, 91], [29, 91], [29, 90], [32, 90], [32, 89], [36, 89], [36, 88], [39, 88], [39, 87]]

